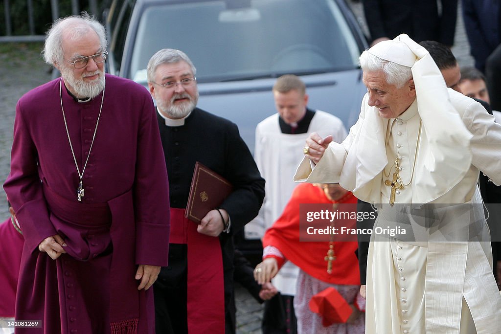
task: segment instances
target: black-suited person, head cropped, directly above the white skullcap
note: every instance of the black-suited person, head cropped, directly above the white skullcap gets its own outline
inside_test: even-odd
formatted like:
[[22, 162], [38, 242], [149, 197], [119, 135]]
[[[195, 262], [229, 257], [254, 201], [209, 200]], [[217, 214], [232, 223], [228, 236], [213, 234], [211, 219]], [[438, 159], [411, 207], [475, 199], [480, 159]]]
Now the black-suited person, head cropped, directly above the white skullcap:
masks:
[[[475, 0], [476, 1], [476, 0]], [[452, 46], [457, 0], [362, 0], [371, 46], [405, 33], [416, 42], [439, 41]]]

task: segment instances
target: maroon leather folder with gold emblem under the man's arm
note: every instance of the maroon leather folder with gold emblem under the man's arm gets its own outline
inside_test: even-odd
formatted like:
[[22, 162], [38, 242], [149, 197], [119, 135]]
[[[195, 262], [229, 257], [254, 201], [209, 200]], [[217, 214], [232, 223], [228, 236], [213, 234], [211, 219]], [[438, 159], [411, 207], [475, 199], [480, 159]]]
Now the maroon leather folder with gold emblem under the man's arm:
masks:
[[219, 207], [232, 190], [233, 186], [225, 178], [197, 161], [184, 216], [199, 224], [207, 212]]

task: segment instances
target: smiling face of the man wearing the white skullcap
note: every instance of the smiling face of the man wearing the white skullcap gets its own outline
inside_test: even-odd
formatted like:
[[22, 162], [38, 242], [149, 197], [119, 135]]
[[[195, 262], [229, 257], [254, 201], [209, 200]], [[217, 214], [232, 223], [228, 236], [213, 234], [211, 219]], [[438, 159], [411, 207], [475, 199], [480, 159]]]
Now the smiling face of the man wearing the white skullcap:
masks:
[[390, 85], [383, 71], [364, 72], [363, 82], [369, 93], [369, 106], [376, 107], [382, 118], [397, 118], [414, 102], [414, 81], [409, 80], [402, 88]]

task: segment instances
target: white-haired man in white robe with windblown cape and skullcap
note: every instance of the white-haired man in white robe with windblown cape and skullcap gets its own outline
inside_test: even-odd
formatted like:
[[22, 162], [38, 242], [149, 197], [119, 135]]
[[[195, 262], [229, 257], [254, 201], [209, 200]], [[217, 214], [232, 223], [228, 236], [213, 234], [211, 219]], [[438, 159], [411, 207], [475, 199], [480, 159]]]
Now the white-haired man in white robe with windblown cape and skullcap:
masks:
[[366, 332], [501, 333], [501, 296], [477, 188], [479, 170], [501, 184], [501, 125], [479, 103], [448, 89], [429, 53], [405, 34], [365, 51], [360, 64], [368, 93], [357, 123], [341, 144], [311, 134], [295, 180], [339, 182], [374, 204], [374, 230], [406, 228], [413, 218], [397, 210], [432, 203], [446, 210], [429, 215], [443, 223], [442, 236], [462, 227], [468, 232], [452, 241], [431, 233], [420, 239], [431, 231], [423, 225], [412, 227], [413, 241], [373, 234]]

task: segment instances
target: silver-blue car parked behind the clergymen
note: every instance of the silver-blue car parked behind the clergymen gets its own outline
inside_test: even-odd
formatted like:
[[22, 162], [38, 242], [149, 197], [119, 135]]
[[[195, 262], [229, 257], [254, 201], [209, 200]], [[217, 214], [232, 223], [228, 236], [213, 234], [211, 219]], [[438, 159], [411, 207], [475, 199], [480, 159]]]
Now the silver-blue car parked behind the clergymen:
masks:
[[358, 118], [367, 42], [345, 0], [120, 0], [106, 26], [111, 74], [147, 86], [156, 51], [184, 51], [197, 68], [198, 106], [236, 123], [251, 151], [283, 74], [301, 76], [310, 108], [346, 128]]

